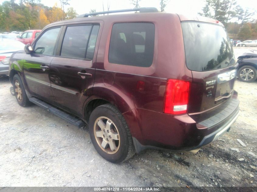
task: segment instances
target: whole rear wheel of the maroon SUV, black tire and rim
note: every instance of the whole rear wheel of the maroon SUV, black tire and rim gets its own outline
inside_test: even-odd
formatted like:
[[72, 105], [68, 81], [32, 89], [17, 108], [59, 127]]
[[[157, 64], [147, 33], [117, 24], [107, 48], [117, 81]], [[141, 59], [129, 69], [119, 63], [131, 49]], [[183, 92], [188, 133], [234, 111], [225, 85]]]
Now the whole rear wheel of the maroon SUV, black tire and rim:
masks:
[[128, 125], [118, 109], [110, 104], [92, 111], [89, 134], [97, 152], [112, 163], [121, 163], [135, 154]]

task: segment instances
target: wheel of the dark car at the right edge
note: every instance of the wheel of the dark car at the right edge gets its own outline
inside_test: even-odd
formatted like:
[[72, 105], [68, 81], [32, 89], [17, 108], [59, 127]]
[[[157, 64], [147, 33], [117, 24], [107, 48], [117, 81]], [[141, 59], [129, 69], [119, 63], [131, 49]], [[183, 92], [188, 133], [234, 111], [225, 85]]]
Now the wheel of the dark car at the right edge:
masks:
[[238, 78], [243, 82], [254, 82], [257, 78], [257, 70], [250, 65], [242, 66], [238, 69]]

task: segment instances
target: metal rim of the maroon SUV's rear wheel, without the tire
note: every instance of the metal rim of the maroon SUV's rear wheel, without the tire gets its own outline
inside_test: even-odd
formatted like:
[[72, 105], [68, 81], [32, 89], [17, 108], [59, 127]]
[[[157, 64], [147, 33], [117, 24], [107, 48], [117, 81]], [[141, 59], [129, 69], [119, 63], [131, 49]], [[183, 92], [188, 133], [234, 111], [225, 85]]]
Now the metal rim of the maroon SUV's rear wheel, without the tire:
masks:
[[108, 154], [117, 153], [120, 148], [120, 134], [108, 117], [99, 117], [94, 124], [94, 135], [99, 147]]

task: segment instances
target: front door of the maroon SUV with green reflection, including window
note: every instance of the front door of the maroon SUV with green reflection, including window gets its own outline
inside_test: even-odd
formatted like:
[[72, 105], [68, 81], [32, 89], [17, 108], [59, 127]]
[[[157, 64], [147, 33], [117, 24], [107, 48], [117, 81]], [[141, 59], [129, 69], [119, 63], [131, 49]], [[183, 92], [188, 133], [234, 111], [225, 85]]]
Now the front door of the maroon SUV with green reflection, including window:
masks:
[[54, 100], [49, 71], [59, 32], [60, 27], [44, 32], [33, 45], [33, 53], [26, 54], [23, 62], [23, 72], [30, 93], [48, 101]]

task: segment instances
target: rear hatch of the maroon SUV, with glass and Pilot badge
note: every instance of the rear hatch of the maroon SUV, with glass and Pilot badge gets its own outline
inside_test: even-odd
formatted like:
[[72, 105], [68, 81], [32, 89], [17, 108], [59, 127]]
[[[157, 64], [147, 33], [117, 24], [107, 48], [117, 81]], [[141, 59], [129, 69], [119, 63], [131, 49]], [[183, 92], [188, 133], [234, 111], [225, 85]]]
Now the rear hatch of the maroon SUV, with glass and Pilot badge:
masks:
[[233, 95], [235, 58], [222, 25], [196, 21], [184, 21], [181, 25], [186, 66], [193, 76], [188, 113], [200, 122]]

